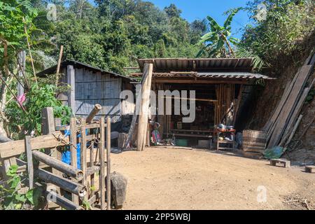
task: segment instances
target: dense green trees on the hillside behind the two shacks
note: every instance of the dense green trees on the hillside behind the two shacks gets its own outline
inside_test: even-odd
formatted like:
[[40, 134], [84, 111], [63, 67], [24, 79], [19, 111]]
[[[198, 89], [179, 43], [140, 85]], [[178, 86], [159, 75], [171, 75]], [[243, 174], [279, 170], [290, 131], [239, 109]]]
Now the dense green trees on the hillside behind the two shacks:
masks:
[[[64, 57], [124, 73], [144, 57], [195, 57], [196, 43], [206, 31], [204, 21], [192, 24], [171, 4], [160, 10], [146, 1], [58, 1], [53, 43], [64, 45]], [[34, 3], [39, 8], [45, 4]], [[51, 51], [57, 55], [58, 48]]]

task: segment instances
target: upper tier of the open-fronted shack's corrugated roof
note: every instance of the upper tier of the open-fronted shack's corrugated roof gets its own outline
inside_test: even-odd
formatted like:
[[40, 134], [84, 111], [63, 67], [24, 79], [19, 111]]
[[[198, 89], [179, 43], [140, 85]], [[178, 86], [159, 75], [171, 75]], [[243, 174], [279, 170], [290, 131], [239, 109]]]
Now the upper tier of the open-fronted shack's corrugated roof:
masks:
[[152, 63], [153, 71], [252, 71], [253, 58], [157, 58], [138, 59], [141, 71]]

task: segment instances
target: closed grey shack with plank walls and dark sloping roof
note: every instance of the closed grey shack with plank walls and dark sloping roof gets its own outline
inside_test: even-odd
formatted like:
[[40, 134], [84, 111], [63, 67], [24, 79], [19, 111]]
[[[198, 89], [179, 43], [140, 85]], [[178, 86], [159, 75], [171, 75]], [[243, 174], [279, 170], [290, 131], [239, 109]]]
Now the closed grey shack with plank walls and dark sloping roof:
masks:
[[[45, 77], [56, 73], [56, 70], [57, 65], [41, 71], [37, 76]], [[60, 73], [61, 85], [69, 85], [70, 90], [60, 93], [58, 99], [70, 106], [76, 116], [86, 117], [94, 104], [102, 106], [98, 116], [110, 116], [113, 123], [122, 114], [133, 113], [134, 105], [120, 99], [122, 90], [134, 90], [132, 78], [70, 59], [61, 62]]]

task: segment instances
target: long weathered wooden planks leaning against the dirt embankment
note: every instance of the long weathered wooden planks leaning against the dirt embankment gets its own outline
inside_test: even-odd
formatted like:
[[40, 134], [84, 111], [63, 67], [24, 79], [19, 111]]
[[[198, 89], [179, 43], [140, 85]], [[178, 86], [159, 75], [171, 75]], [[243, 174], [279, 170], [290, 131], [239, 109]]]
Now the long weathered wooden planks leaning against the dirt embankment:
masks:
[[[292, 139], [301, 120], [302, 106], [314, 85], [315, 78], [310, 77], [314, 64], [315, 54], [312, 52], [286, 86], [272, 117], [263, 128], [267, 132], [267, 148], [286, 146]], [[308, 83], [309, 79], [311, 82]]]

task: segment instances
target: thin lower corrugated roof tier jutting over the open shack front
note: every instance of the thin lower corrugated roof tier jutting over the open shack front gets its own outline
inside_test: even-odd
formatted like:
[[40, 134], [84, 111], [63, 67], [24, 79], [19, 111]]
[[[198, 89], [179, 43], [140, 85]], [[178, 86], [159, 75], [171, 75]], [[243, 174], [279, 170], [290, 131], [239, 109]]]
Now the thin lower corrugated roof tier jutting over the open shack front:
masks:
[[[133, 77], [141, 77], [142, 73], [133, 73]], [[264, 76], [259, 73], [250, 72], [176, 72], [170, 73], [153, 73], [153, 77], [165, 77], [165, 78], [185, 78], [185, 77], [197, 77], [197, 78], [241, 78], [241, 79], [274, 79]]]

